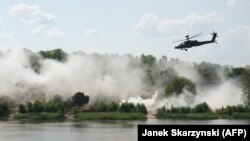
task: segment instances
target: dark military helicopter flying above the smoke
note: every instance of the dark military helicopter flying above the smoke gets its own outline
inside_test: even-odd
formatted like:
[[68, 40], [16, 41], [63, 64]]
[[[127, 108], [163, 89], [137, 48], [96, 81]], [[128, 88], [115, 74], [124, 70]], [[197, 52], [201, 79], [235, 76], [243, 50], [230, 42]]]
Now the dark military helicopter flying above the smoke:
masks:
[[182, 43], [180, 43], [178, 46], [175, 47], [175, 49], [181, 49], [181, 50], [185, 50], [187, 51], [187, 48], [192, 48], [192, 47], [195, 47], [195, 46], [201, 46], [201, 45], [204, 45], [204, 44], [210, 44], [210, 43], [216, 43], [216, 37], [217, 36], [217, 33], [213, 32], [211, 35], [212, 35], [212, 39], [211, 40], [208, 40], [208, 41], [197, 41], [197, 40], [189, 40], [189, 39], [192, 39], [192, 38], [195, 38], [197, 36], [200, 36], [202, 33], [198, 33], [192, 37], [189, 37], [189, 35], [186, 35], [186, 39], [182, 39], [182, 40], [178, 40], [178, 41], [175, 41], [175, 42], [180, 42], [180, 41], [184, 41]]

